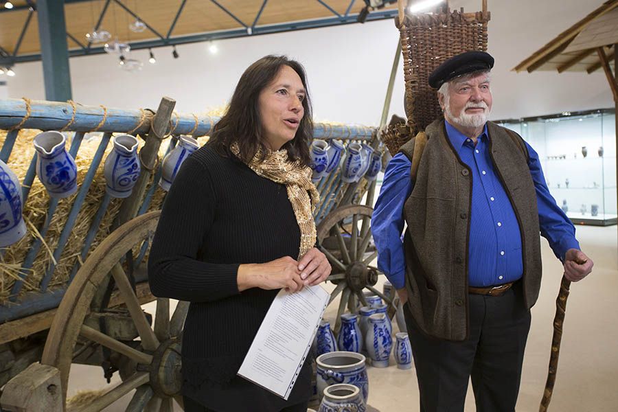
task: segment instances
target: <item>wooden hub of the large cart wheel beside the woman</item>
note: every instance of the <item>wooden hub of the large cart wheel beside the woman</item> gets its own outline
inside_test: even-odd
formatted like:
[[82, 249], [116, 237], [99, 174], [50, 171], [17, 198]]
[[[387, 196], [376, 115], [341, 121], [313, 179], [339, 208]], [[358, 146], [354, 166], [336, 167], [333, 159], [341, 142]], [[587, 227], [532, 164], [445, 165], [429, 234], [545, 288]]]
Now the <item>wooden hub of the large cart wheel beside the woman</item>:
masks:
[[170, 339], [159, 345], [152, 355], [150, 365], [150, 385], [159, 395], [178, 395], [182, 386], [181, 345], [176, 339]]

